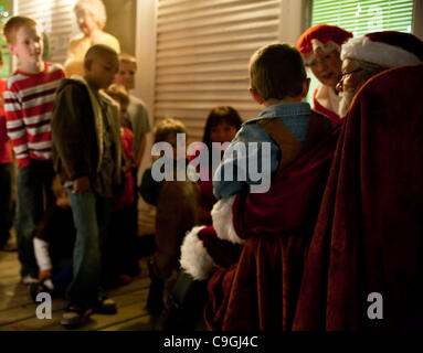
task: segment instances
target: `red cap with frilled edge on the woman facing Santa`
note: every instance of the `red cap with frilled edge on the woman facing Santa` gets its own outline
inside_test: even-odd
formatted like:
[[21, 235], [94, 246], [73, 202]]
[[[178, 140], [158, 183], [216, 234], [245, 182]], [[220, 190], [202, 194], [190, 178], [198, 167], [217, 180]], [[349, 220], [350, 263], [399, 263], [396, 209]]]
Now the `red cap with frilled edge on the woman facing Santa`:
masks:
[[352, 38], [352, 33], [336, 25], [317, 24], [305, 31], [297, 41], [297, 49], [309, 64], [315, 58], [316, 49], [325, 53], [334, 50], [340, 52], [341, 44]]

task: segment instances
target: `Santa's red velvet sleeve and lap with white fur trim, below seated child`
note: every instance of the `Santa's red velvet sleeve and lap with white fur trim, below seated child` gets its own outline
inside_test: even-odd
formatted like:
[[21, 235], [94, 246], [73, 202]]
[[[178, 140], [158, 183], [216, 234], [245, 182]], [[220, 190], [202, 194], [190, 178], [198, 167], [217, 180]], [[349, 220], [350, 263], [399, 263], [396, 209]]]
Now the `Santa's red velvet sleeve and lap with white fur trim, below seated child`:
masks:
[[[292, 327], [338, 137], [337, 129], [327, 131], [326, 118], [311, 117], [303, 149], [281, 165], [267, 193], [219, 201], [213, 226], [195, 227], [184, 238], [182, 268], [195, 279], [210, 278], [204, 318], [213, 330]], [[272, 125], [266, 130], [276, 142], [284, 138], [275, 136]]]

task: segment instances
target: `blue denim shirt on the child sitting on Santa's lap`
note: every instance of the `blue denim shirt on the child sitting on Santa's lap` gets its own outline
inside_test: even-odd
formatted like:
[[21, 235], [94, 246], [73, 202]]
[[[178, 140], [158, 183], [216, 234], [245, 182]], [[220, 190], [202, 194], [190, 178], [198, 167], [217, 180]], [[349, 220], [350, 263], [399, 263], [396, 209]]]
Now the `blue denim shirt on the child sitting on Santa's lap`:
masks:
[[[311, 109], [308, 103], [277, 104], [264, 109], [257, 118], [244, 122], [228, 147], [222, 162], [214, 173], [213, 192], [216, 199], [228, 199], [242, 190], [248, 189], [248, 191], [251, 191], [248, 186], [262, 183], [260, 180], [253, 180], [248, 172], [248, 165], [251, 165], [253, 160], [256, 160], [258, 165], [265, 165], [265, 163], [271, 165], [269, 178], [277, 171], [281, 156], [279, 147], [266, 130], [256, 124], [258, 120], [279, 118], [297, 140], [304, 143], [307, 137], [310, 111]], [[257, 147], [252, 146], [248, 148], [247, 146], [244, 151], [236, 148], [236, 142], [257, 142]], [[268, 156], [266, 156], [266, 153], [262, 154], [262, 151], [265, 150], [262, 142], [269, 142], [271, 153]], [[240, 153], [234, 153], [234, 150], [240, 151]], [[255, 164], [253, 165], [255, 167]], [[233, 181], [225, 181], [225, 171], [230, 170], [230, 168], [233, 170]], [[258, 171], [260, 170], [261, 168], [258, 167]], [[266, 186], [263, 183], [262, 185]], [[269, 180], [267, 188], [264, 188], [263, 192], [267, 191], [268, 186]]]

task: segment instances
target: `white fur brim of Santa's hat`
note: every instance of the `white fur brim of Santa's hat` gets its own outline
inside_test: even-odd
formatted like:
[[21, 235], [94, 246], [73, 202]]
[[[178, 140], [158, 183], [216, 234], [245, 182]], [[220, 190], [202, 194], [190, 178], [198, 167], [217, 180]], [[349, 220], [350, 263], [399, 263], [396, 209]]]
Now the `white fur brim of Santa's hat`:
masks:
[[395, 67], [403, 65], [422, 64], [422, 61], [396, 45], [373, 42], [367, 36], [351, 38], [341, 46], [341, 60], [357, 58], [364, 62]]

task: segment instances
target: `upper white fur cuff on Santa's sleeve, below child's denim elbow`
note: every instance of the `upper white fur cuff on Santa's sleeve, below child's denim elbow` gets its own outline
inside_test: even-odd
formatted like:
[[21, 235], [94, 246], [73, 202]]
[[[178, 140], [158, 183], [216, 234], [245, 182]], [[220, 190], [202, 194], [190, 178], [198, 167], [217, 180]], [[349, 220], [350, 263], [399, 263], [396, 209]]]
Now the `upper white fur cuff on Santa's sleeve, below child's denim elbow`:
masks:
[[219, 200], [211, 212], [213, 227], [219, 238], [229, 240], [234, 244], [244, 244], [245, 240], [240, 238], [233, 227], [232, 206], [235, 201], [235, 195]]

